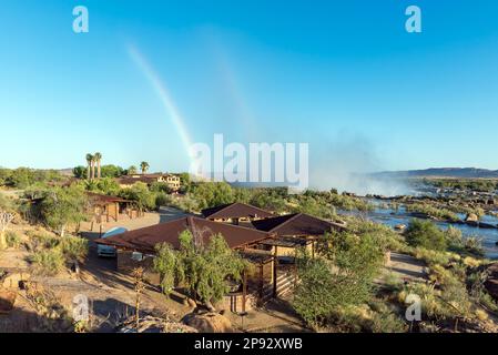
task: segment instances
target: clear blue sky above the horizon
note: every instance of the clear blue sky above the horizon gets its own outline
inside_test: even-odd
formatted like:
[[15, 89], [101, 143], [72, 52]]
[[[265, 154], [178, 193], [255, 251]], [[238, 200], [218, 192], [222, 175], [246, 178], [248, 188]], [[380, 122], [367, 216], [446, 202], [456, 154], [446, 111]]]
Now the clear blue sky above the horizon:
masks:
[[[79, 4], [89, 33], [72, 31]], [[405, 31], [409, 4], [423, 33]], [[308, 142], [312, 174], [498, 169], [494, 0], [3, 0], [0, 44], [3, 166], [100, 151], [186, 170], [142, 61], [195, 142]]]

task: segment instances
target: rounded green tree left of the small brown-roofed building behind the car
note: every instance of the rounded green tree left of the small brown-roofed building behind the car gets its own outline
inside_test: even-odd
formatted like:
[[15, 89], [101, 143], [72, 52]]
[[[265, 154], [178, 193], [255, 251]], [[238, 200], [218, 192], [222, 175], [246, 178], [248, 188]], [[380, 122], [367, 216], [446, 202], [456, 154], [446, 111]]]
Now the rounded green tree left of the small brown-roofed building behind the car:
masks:
[[48, 226], [64, 236], [68, 225], [87, 219], [87, 194], [80, 186], [53, 187], [45, 192], [40, 215]]

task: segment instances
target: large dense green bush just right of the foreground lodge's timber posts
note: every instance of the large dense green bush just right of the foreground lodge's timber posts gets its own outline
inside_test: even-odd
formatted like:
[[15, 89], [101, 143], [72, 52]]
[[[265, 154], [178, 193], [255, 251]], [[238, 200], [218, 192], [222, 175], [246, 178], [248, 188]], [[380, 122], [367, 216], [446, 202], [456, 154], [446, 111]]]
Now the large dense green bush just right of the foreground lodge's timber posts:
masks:
[[318, 257], [301, 252], [293, 305], [312, 326], [327, 326], [334, 314], [367, 302], [384, 260], [384, 245], [365, 234], [326, 235]]

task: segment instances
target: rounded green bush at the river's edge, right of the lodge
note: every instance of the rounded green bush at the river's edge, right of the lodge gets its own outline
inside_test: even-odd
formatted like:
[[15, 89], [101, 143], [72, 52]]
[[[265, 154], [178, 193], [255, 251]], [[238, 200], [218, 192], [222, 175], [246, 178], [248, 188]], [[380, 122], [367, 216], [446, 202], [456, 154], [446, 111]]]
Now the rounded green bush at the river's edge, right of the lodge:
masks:
[[413, 220], [405, 232], [406, 242], [435, 251], [446, 250], [445, 233], [430, 221]]

